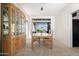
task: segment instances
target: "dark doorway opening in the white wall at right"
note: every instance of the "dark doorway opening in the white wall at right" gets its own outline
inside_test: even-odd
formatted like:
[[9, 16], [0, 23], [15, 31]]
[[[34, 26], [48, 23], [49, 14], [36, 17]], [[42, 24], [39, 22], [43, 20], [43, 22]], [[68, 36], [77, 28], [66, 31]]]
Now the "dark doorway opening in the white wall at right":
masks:
[[72, 14], [73, 47], [79, 47], [79, 10]]

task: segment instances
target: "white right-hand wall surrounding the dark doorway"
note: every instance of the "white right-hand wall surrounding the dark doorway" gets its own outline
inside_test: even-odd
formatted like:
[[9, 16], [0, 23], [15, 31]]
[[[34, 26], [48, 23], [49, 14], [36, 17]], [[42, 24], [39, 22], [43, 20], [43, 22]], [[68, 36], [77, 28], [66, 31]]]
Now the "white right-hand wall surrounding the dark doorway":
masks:
[[72, 12], [79, 4], [69, 4], [56, 16], [56, 39], [67, 47], [72, 47]]

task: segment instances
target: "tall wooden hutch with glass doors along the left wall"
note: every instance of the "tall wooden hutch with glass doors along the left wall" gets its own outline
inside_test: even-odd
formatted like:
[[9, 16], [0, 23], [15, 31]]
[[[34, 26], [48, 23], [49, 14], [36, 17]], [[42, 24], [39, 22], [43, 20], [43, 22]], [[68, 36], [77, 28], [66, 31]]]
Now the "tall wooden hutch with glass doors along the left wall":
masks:
[[26, 17], [11, 3], [1, 4], [2, 52], [15, 55], [26, 45]]

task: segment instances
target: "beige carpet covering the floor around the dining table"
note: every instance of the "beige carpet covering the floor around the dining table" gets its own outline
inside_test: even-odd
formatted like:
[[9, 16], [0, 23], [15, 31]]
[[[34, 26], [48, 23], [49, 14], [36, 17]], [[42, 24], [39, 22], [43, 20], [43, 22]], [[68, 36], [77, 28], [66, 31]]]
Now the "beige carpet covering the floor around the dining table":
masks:
[[79, 56], [79, 48], [68, 48], [64, 44], [54, 40], [52, 49], [43, 45], [37, 46], [34, 49], [26, 46], [16, 56]]

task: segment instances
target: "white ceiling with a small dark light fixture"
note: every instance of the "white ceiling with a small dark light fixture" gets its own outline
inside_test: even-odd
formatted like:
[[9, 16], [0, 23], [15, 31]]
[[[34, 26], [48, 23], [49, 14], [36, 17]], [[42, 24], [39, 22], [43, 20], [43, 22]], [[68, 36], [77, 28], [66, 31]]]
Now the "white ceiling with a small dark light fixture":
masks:
[[[67, 3], [19, 3], [30, 16], [55, 16], [59, 13]], [[41, 11], [43, 6], [43, 11]]]

